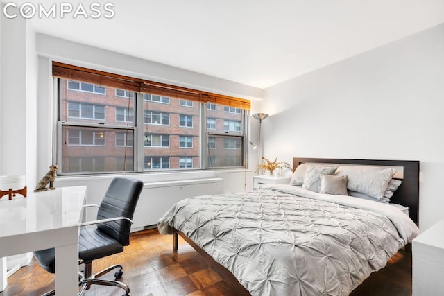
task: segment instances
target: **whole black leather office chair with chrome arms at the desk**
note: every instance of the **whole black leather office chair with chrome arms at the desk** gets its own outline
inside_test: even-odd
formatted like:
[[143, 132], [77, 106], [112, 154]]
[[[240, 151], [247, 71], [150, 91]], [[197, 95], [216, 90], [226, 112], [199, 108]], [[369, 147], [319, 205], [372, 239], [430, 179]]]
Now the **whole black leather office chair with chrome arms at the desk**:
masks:
[[[86, 205], [99, 207], [97, 220], [82, 223], [82, 226], [97, 225], [96, 227], [82, 227], [78, 238], [79, 263], [85, 264], [85, 270], [79, 272], [79, 286], [82, 286], [78, 295], [83, 295], [92, 284], [105, 286], [117, 286], [125, 290], [129, 295], [130, 288], [120, 281], [98, 279], [102, 275], [119, 268], [115, 272], [115, 279], [123, 275], [121, 265], [112, 265], [101, 272], [92, 274], [92, 261], [123, 252], [123, 246], [130, 244], [130, 228], [133, 221], [134, 210], [139, 200], [144, 183], [139, 180], [126, 177], [116, 177], [112, 180], [105, 193], [100, 207], [94, 204]], [[46, 271], [54, 273], [55, 252], [47, 249], [34, 252], [35, 259]], [[52, 290], [45, 296], [55, 295]]]

